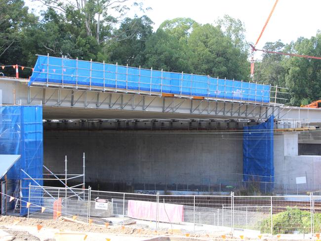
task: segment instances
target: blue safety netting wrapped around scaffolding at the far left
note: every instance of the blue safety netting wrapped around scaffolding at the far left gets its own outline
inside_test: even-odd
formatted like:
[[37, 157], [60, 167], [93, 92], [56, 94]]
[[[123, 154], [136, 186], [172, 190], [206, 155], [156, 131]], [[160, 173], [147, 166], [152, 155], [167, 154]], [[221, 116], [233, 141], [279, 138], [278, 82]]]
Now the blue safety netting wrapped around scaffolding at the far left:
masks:
[[[43, 178], [42, 133], [42, 106], [0, 106], [0, 154], [21, 155], [7, 173], [7, 179], [21, 180], [21, 216], [28, 212], [24, 201], [28, 201], [29, 183], [37, 185], [24, 180], [29, 177], [21, 169], [32, 178]], [[43, 185], [42, 180], [37, 182]], [[41, 199], [33, 203], [41, 206]]]

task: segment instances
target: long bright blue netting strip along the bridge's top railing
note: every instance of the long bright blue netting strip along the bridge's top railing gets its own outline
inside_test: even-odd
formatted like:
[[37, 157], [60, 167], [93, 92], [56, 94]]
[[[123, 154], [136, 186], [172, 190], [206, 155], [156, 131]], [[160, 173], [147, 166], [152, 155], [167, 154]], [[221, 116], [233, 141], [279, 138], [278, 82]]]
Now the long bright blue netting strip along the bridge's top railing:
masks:
[[29, 81], [270, 102], [270, 85], [38, 56]]

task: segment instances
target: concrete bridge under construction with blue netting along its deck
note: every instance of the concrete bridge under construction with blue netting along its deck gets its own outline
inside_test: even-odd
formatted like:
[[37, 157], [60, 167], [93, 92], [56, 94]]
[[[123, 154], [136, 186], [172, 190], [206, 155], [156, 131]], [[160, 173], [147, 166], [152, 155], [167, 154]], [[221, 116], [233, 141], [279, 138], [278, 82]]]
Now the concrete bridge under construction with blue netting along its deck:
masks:
[[2, 106], [40, 106], [44, 164], [79, 172], [85, 152], [93, 187], [319, 188], [321, 109], [281, 104], [285, 88], [50, 56], [17, 77], [0, 78]]

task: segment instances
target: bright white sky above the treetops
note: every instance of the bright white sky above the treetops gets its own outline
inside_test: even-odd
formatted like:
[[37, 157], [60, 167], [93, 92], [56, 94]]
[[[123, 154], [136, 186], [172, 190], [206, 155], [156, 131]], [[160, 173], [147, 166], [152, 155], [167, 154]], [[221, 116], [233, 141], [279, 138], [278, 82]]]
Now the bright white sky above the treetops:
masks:
[[[130, 0], [134, 1], [134, 0]], [[275, 3], [275, 0], [136, 0], [142, 1], [156, 31], [166, 19], [189, 17], [195, 21], [206, 24], [214, 23], [225, 14], [238, 18], [244, 23], [246, 40], [255, 42], [264, 26], [264, 23]], [[26, 0], [30, 7], [35, 2]], [[36, 4], [37, 5], [37, 4]], [[299, 37], [311, 38], [320, 25], [321, 0], [279, 0], [270, 22], [263, 33], [257, 48], [262, 48], [267, 41], [281, 40], [289, 43]], [[132, 10], [129, 17], [134, 14], [141, 16], [139, 11]], [[131, 15], [131, 16], [130, 16]]]

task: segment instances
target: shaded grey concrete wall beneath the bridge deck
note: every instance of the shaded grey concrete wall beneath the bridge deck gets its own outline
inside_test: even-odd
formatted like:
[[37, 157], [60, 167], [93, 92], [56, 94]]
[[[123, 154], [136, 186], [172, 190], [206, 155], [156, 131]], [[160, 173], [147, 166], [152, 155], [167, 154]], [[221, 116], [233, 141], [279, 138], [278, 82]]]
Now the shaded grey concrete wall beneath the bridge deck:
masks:
[[82, 173], [83, 152], [92, 183], [201, 184], [205, 177], [216, 183], [242, 173], [242, 134], [44, 131], [44, 164], [53, 171], [64, 171], [67, 155], [68, 172]]

